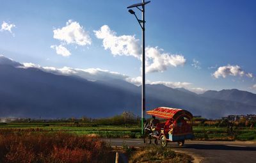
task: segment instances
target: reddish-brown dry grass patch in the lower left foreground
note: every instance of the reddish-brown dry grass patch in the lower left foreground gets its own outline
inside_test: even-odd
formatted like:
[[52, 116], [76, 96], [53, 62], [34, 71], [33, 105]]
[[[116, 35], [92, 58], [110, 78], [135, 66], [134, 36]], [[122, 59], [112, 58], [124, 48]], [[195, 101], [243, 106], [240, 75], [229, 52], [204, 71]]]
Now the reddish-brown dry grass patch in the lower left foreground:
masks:
[[0, 130], [0, 162], [109, 162], [111, 156], [97, 137]]

